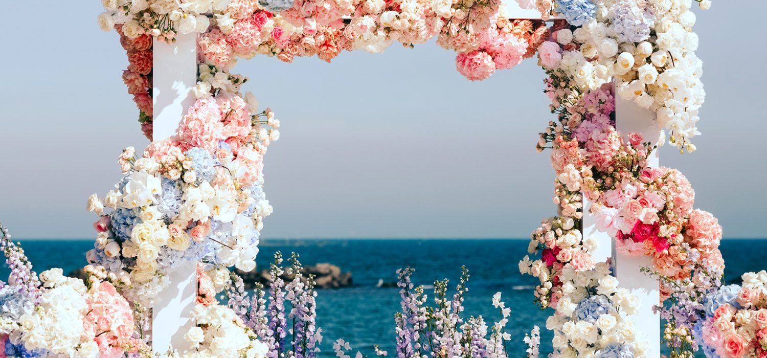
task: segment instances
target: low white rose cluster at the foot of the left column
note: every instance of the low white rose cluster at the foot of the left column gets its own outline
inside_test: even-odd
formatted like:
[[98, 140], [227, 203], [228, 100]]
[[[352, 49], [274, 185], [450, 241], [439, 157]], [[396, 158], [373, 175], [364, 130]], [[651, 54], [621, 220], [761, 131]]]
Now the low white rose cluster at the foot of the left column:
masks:
[[226, 306], [198, 304], [193, 316], [197, 326], [189, 329], [184, 338], [191, 350], [183, 352], [184, 358], [211, 358], [221, 356], [244, 356], [263, 358], [268, 353], [266, 344], [255, 338], [255, 333], [245, 327], [235, 312]]

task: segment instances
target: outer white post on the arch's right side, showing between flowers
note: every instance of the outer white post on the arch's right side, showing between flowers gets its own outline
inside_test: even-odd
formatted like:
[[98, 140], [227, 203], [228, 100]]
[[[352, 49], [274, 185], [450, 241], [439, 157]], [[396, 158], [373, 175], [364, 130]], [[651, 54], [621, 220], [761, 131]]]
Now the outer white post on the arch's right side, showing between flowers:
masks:
[[[624, 140], [628, 142], [628, 133], [642, 133], [644, 142], [657, 143], [659, 129], [653, 110], [642, 108], [634, 100], [623, 100], [615, 95], [616, 128]], [[659, 166], [658, 151], [654, 150], [648, 165]], [[621, 287], [628, 288], [639, 297], [641, 306], [634, 320], [637, 333], [647, 337], [650, 346], [647, 349], [648, 358], [660, 358], [660, 315], [653, 314], [653, 305], [660, 302], [660, 284], [657, 279], [640, 272], [642, 267], [653, 267], [652, 259], [647, 256], [630, 257], [617, 252], [615, 258], [615, 277], [621, 282]]]

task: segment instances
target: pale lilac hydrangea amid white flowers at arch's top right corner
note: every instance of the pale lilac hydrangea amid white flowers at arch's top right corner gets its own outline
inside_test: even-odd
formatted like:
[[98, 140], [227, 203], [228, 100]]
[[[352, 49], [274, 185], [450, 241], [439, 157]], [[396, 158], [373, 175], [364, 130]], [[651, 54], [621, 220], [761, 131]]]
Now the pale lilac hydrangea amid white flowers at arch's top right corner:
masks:
[[650, 38], [655, 16], [647, 6], [634, 0], [618, 0], [614, 7], [613, 30], [618, 42], [641, 42]]

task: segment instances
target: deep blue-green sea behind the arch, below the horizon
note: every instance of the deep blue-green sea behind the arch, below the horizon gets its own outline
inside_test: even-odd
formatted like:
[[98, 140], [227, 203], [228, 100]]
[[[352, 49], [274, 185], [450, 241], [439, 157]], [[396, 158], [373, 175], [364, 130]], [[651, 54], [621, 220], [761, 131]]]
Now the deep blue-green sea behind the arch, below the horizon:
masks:
[[[22, 240], [21, 245], [38, 273], [48, 268], [63, 268], [64, 273], [82, 267], [85, 252], [93, 247], [88, 240]], [[271, 239], [262, 240], [257, 269], [268, 268], [275, 252], [284, 257], [298, 253], [303, 264], [331, 263], [352, 274], [353, 285], [341, 289], [319, 290], [317, 324], [322, 329], [320, 356], [335, 356], [333, 342], [343, 339], [357, 350], [375, 356], [373, 346], [394, 353], [394, 313], [400, 308], [397, 287], [379, 287], [397, 281], [398, 268], [415, 268], [413, 283], [423, 285], [433, 298], [433, 282], [448, 278], [455, 288], [461, 266], [469, 270], [469, 291], [464, 314], [482, 316], [489, 325], [500, 319], [492, 307], [492, 295], [502, 293], [502, 301], [512, 310], [507, 332], [509, 356], [524, 357], [525, 333], [541, 327], [542, 353], [551, 352], [551, 332], [545, 321], [553, 310], [541, 310], [533, 303], [532, 287], [537, 279], [522, 276], [518, 261], [527, 253], [528, 240], [522, 239]], [[739, 282], [746, 271], [767, 269], [767, 239], [725, 239], [721, 250], [726, 261], [725, 279]], [[2, 277], [7, 277], [3, 268]], [[385, 286], [385, 285], [384, 285]], [[543, 356], [543, 355], [542, 355]]]

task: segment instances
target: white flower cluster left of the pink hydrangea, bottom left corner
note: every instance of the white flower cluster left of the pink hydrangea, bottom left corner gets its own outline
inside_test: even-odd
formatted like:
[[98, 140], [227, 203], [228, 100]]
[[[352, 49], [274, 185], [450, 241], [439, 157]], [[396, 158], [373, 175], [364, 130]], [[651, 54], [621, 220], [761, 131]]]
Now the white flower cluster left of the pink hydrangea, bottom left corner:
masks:
[[23, 342], [27, 350], [48, 350], [76, 358], [97, 357], [97, 344], [83, 340], [86, 335], [82, 322], [88, 308], [83, 281], [64, 277], [61, 268], [44, 271], [40, 278], [48, 289], [41, 294], [35, 310], [18, 320], [21, 327], [12, 333], [12, 341]]

